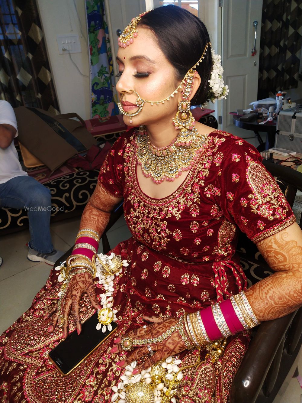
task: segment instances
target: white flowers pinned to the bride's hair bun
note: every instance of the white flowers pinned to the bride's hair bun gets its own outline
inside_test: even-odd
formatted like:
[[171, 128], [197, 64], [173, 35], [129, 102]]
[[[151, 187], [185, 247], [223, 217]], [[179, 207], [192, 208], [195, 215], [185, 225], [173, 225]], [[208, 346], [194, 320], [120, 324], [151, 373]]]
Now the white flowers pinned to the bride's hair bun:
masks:
[[211, 53], [213, 59], [213, 69], [211, 72], [211, 78], [209, 79], [211, 90], [208, 94], [208, 97], [209, 100], [215, 104], [216, 99], [222, 100], [226, 98], [229, 93], [229, 87], [228, 85], [224, 85], [221, 56], [219, 54], [215, 54], [213, 48], [211, 49]]

